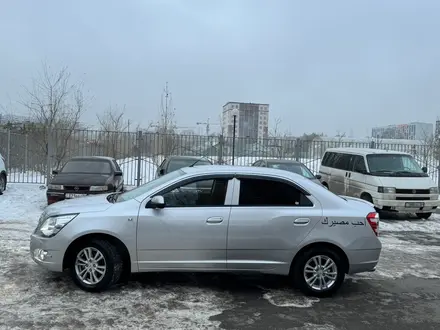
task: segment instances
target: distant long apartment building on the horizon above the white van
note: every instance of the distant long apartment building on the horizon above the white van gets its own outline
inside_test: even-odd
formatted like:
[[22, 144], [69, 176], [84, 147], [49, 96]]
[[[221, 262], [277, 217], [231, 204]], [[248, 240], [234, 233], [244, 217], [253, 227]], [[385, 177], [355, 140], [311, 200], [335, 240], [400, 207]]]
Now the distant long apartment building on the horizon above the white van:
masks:
[[375, 127], [371, 130], [371, 137], [376, 139], [426, 140], [430, 139], [433, 133], [433, 124], [414, 122]]

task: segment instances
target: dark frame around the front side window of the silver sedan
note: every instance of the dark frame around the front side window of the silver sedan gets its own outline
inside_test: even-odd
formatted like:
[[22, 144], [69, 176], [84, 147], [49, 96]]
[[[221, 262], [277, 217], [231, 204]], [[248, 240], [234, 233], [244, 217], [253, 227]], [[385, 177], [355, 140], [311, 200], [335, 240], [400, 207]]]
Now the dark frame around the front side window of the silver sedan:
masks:
[[227, 187], [226, 187], [226, 194], [225, 194], [225, 203], [223, 205], [188, 205], [188, 206], [165, 206], [165, 208], [169, 208], [169, 209], [176, 209], [176, 208], [207, 208], [207, 207], [230, 207], [229, 204], [226, 203], [227, 197], [231, 196], [231, 192], [229, 192], [229, 190], [231, 189], [231, 191], [234, 189], [234, 185], [232, 183], [232, 180], [234, 179], [234, 174], [197, 174], [195, 176], [190, 176], [190, 177], [186, 177], [183, 180], [180, 180], [178, 182], [174, 182], [166, 187], [162, 187], [160, 190], [156, 191], [155, 193], [151, 194], [150, 196], [146, 197], [143, 201], [142, 201], [142, 205], [146, 205], [151, 198], [153, 198], [154, 196], [157, 195], [161, 195], [163, 196], [163, 194], [186, 184], [192, 183], [192, 182], [197, 182], [197, 181], [204, 181], [204, 180], [215, 180], [215, 179], [227, 179]]

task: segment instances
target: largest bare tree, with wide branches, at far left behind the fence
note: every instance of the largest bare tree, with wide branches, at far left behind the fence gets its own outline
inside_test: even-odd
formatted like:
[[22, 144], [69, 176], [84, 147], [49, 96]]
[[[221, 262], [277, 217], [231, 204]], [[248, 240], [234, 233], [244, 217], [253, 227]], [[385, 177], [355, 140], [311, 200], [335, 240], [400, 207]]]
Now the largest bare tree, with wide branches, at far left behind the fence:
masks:
[[74, 142], [73, 134], [85, 110], [82, 90], [82, 83], [70, 82], [67, 67], [53, 73], [46, 63], [33, 79], [32, 88], [24, 88], [20, 103], [32, 117], [32, 138], [39, 145], [41, 156], [49, 155], [55, 168], [71, 156], [69, 143]]

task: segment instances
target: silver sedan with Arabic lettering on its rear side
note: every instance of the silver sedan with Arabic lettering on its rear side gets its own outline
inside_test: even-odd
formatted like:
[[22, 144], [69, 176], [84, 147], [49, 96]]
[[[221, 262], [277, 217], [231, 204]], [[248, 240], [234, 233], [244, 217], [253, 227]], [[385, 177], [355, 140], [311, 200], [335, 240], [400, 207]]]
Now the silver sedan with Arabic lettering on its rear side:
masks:
[[[206, 187], [209, 189], [200, 189]], [[33, 260], [86, 291], [127, 273], [267, 273], [327, 296], [345, 274], [374, 271], [381, 253], [373, 206], [288, 171], [195, 166], [122, 194], [46, 207]]]

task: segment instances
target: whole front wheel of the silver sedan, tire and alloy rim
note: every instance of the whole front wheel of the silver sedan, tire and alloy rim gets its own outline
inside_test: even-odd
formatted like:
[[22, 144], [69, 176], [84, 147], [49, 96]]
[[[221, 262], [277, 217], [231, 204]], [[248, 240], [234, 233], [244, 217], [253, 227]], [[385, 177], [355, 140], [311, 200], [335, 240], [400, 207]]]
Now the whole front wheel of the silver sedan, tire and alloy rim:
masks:
[[118, 283], [123, 262], [115, 246], [106, 240], [92, 239], [75, 249], [69, 268], [80, 289], [100, 292]]

